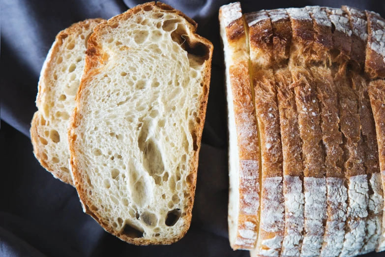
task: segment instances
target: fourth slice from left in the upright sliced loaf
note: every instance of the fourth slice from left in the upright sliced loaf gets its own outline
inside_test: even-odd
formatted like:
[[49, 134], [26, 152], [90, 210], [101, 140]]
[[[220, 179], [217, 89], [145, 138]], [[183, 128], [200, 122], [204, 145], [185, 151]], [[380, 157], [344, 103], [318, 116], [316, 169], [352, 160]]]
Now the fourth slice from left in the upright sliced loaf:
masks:
[[289, 68], [296, 94], [299, 133], [304, 165], [304, 236], [301, 255], [319, 255], [326, 223], [326, 171], [322, 146], [317, 87], [310, 69], [313, 62], [313, 20], [305, 8], [289, 8], [293, 39]]

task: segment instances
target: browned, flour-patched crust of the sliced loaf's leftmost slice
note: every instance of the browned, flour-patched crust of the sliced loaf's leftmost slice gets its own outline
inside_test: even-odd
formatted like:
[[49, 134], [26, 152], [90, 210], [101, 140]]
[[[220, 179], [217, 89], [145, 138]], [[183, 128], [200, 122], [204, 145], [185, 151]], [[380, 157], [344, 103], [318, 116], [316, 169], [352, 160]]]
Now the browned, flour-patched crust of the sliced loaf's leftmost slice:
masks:
[[[219, 20], [223, 41], [227, 40], [229, 53], [230, 86], [232, 94], [235, 125], [237, 129], [237, 146], [239, 157], [239, 208], [236, 237], [230, 238], [231, 247], [236, 249], [253, 249], [258, 237], [260, 178], [259, 178], [259, 139], [250, 85], [246, 34], [240, 3], [224, 5], [219, 10]], [[223, 38], [226, 37], [226, 38]], [[237, 200], [237, 199], [236, 199]], [[229, 212], [229, 221], [230, 212]], [[234, 226], [229, 222], [229, 226]], [[231, 228], [229, 228], [230, 230]]]

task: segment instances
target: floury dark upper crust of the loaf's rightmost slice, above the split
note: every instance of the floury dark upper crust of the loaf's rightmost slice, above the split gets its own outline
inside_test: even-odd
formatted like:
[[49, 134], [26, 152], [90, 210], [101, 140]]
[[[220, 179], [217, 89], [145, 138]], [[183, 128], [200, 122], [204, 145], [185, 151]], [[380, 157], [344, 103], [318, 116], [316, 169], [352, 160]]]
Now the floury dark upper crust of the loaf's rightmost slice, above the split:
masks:
[[385, 20], [375, 12], [365, 11], [368, 22], [365, 72], [371, 79], [385, 78]]

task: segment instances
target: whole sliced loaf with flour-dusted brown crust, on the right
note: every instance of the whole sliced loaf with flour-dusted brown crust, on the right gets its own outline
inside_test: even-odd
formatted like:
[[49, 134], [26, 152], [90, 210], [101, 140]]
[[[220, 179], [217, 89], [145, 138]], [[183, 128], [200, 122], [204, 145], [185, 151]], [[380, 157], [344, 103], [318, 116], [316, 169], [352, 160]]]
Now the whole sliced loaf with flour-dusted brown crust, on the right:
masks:
[[229, 238], [251, 256], [385, 250], [385, 20], [349, 6], [219, 11]]

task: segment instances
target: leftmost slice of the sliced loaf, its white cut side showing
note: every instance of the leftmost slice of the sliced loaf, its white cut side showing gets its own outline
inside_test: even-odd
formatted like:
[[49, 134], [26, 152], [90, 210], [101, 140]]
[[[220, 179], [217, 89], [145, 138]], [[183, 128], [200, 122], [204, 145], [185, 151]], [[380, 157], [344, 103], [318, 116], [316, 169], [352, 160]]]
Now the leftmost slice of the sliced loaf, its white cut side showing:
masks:
[[222, 6], [219, 22], [229, 116], [229, 240], [234, 250], [253, 249], [259, 227], [260, 153], [240, 3]]

